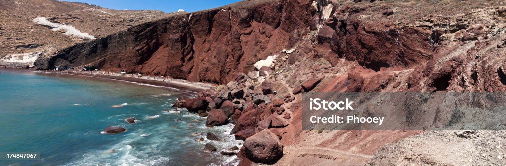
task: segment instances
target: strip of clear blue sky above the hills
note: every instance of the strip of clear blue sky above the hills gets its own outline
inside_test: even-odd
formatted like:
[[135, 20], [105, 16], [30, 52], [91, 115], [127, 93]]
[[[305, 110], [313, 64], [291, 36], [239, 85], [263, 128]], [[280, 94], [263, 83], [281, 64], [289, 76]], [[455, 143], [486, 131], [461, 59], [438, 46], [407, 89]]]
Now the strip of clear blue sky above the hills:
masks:
[[186, 12], [195, 12], [217, 8], [239, 2], [240, 0], [63, 0], [98, 5], [103, 8], [115, 10], [159, 10], [166, 13], [177, 12], [179, 9]]

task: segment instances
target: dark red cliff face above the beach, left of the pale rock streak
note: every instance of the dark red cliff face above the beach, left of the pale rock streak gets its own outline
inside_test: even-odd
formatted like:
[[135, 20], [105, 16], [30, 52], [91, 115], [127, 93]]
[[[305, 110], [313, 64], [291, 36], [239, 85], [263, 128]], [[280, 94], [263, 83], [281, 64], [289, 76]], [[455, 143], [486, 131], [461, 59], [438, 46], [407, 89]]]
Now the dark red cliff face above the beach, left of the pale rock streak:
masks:
[[74, 45], [35, 64], [39, 69], [93, 64], [107, 71], [226, 83], [307, 33], [310, 5], [268, 2], [180, 14]]

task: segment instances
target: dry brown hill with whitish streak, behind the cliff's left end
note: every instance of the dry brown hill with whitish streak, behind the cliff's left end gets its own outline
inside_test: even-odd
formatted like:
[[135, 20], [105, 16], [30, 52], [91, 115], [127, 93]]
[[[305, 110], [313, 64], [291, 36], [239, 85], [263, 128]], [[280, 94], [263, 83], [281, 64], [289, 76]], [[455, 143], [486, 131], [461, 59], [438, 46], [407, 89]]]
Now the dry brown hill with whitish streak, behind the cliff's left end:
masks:
[[169, 15], [160, 11], [118, 11], [54, 0], [1, 1], [0, 58], [33, 51], [46, 51], [47, 55], [90, 40], [65, 35], [65, 28], [54, 31], [53, 27], [34, 22], [35, 18], [45, 17], [49, 22], [70, 25], [82, 33], [100, 38]]

